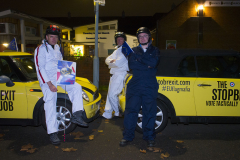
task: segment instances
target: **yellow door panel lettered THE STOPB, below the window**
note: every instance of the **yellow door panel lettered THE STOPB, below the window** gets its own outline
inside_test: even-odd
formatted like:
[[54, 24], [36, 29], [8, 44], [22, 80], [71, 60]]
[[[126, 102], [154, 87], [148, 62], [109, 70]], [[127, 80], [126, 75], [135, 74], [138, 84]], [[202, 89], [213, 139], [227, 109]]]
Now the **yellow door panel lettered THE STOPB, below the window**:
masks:
[[240, 115], [240, 79], [198, 78], [194, 86], [197, 116]]

